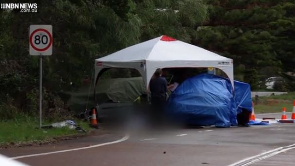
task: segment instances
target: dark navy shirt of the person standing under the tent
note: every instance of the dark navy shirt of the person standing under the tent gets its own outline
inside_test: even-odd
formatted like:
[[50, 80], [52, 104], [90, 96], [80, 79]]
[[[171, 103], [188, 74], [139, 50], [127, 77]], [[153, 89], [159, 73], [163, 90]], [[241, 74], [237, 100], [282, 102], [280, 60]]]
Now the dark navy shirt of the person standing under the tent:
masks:
[[163, 77], [154, 77], [150, 80], [149, 90], [151, 97], [166, 97], [167, 81]]

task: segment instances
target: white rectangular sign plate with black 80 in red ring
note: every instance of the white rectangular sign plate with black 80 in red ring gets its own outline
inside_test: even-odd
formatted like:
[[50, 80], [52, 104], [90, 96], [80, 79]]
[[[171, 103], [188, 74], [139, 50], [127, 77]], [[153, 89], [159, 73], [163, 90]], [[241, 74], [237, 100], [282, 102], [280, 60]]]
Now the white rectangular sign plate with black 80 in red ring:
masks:
[[30, 55], [52, 55], [52, 25], [30, 26]]

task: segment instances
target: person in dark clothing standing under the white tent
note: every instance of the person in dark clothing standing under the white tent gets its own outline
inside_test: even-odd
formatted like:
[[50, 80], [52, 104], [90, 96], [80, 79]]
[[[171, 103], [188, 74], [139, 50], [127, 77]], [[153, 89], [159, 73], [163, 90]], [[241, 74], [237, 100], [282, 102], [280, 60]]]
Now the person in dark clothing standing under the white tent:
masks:
[[167, 81], [162, 77], [162, 70], [157, 69], [149, 82], [151, 108], [155, 121], [161, 121], [166, 103]]

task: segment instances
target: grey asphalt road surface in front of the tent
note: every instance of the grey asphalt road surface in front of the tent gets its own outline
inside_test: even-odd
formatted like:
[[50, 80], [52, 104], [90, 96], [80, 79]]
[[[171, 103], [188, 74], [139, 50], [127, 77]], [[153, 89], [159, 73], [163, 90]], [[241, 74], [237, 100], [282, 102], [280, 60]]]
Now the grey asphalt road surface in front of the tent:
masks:
[[[280, 113], [257, 115], [258, 118], [275, 116], [280, 117]], [[99, 131], [90, 137], [56, 145], [0, 149], [0, 153], [15, 157], [88, 147], [17, 159], [31, 166], [228, 166], [269, 150], [295, 144], [295, 124], [273, 124], [228, 129], [138, 128], [129, 132], [129, 137], [125, 137], [129, 139], [125, 141], [89, 147], [120, 140], [125, 132]], [[290, 149], [290, 152], [260, 160], [253, 166], [292, 165], [294, 153], [295, 150]]]

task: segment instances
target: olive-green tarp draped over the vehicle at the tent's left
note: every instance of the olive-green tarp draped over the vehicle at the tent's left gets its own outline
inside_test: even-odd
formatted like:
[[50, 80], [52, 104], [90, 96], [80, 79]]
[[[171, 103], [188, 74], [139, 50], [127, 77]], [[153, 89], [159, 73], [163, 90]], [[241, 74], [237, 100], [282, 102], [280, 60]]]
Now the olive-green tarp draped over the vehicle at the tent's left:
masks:
[[96, 101], [104, 103], [133, 102], [138, 96], [145, 94], [146, 88], [142, 77], [100, 79], [96, 85]]

